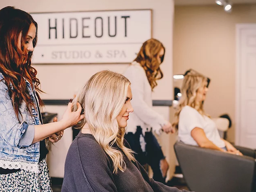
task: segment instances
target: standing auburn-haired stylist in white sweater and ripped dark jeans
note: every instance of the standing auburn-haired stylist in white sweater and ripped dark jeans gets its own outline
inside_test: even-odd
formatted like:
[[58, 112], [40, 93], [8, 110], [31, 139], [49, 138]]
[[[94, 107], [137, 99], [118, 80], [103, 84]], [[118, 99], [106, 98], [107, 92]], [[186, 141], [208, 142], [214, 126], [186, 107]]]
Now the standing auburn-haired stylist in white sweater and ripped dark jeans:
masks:
[[174, 132], [170, 122], [152, 109], [151, 93], [156, 81], [163, 77], [160, 64], [164, 60], [165, 48], [156, 39], [143, 43], [137, 58], [126, 69], [124, 75], [131, 82], [133, 99], [131, 101], [134, 113], [130, 115], [125, 139], [135, 158], [141, 164], [148, 163], [153, 170], [153, 179], [165, 183], [168, 163], [154, 134], [160, 130], [166, 133]]

